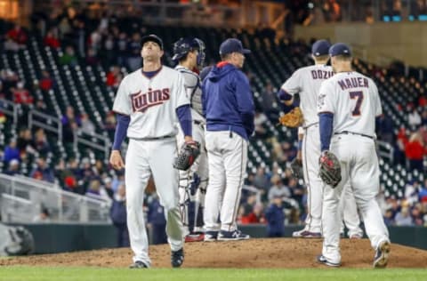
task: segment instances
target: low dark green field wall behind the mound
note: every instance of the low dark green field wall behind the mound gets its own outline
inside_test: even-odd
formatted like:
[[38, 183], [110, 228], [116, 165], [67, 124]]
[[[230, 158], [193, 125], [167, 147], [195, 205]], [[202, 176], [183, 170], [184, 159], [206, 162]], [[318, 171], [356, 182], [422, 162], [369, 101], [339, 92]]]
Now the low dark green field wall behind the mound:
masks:
[[[82, 224], [28, 224], [24, 225], [33, 234], [36, 253], [63, 253], [73, 251], [113, 248], [116, 246], [117, 232], [110, 225]], [[265, 225], [242, 225], [243, 232], [251, 237], [266, 237]], [[289, 225], [285, 237], [301, 226]], [[391, 242], [427, 250], [427, 228], [389, 227]]]

